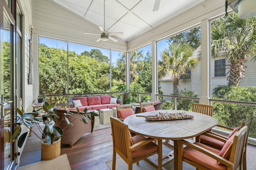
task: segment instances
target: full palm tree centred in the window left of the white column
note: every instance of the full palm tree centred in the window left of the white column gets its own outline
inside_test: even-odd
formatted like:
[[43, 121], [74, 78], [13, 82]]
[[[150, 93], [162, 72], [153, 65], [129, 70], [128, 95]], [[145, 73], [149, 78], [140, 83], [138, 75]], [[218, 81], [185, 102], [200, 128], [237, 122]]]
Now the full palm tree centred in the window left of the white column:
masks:
[[161, 78], [170, 74], [173, 83], [173, 93], [179, 94], [179, 84], [182, 77], [183, 80], [190, 78], [188, 71], [196, 68], [200, 58], [198, 55], [192, 57], [194, 50], [188, 44], [172, 43], [169, 49], [161, 52], [161, 61], [158, 63], [158, 77]]

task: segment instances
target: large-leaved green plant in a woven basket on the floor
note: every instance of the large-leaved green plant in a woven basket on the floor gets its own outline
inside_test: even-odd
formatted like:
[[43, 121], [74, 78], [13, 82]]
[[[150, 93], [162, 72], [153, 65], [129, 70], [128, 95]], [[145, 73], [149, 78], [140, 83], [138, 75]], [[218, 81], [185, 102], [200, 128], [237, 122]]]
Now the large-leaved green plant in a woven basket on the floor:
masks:
[[[21, 120], [21, 123], [18, 127], [16, 127], [16, 129], [13, 133], [12, 141], [15, 141], [16, 139], [18, 139], [18, 137], [22, 131], [21, 125], [25, 125], [26, 127], [30, 128], [30, 130], [39, 139], [41, 139], [41, 141], [42, 141], [41, 147], [48, 147], [47, 150], [50, 150], [50, 151], [56, 150], [56, 152], [50, 152], [51, 155], [48, 156], [47, 158], [45, 158], [45, 156], [43, 156], [43, 155], [45, 155], [44, 152], [46, 149], [41, 149], [42, 160], [50, 160], [50, 159], [56, 158], [57, 156], [60, 155], [60, 140], [61, 140], [60, 137], [63, 135], [63, 130], [66, 128], [66, 127], [64, 127], [62, 129], [58, 125], [55, 125], [55, 122], [56, 122], [55, 117], [57, 117], [57, 118], [60, 118], [60, 117], [53, 113], [53, 109], [55, 108], [54, 106], [55, 106], [55, 103], [49, 104], [48, 102], [45, 102], [43, 107], [37, 110], [37, 111], [39, 111], [39, 110], [43, 109], [42, 110], [42, 119], [40, 117], [38, 117], [38, 112], [25, 113], [23, 106], [22, 106], [21, 110], [19, 108], [16, 108], [16, 111], [20, 114], [20, 115], [16, 115], [16, 117], [18, 117], [18, 120]], [[78, 113], [78, 117], [76, 119], [80, 119], [85, 124], [88, 124], [87, 118], [92, 121], [92, 118], [90, 117], [90, 115], [87, 115], [87, 117], [86, 117], [85, 113], [87, 112], [87, 108], [84, 109], [84, 114], [80, 114], [80, 111], [78, 108], [76, 108], [76, 110]], [[61, 121], [66, 121], [67, 126], [72, 125], [72, 122], [76, 119], [69, 121], [68, 115], [72, 115], [73, 113], [71, 113], [68, 108], [66, 108], [66, 112], [67, 113], [64, 113], [64, 117], [62, 118]], [[92, 116], [98, 116], [97, 113], [94, 113], [94, 112], [90, 112], [90, 113]], [[32, 129], [33, 123], [39, 129], [40, 135], [35, 133], [35, 131]], [[43, 123], [45, 125], [44, 128], [42, 128], [39, 125], [39, 123]], [[20, 148], [22, 147], [27, 134], [28, 134], [28, 132], [25, 132], [22, 135], [20, 135], [20, 137], [18, 139], [18, 147], [20, 147]]]

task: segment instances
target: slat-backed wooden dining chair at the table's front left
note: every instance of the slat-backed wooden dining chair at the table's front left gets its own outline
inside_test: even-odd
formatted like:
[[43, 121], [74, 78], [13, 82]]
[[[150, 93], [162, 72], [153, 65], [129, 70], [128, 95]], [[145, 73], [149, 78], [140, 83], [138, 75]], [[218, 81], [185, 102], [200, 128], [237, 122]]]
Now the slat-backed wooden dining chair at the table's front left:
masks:
[[[132, 137], [128, 125], [112, 116], [110, 124], [113, 141], [112, 170], [116, 169], [116, 153], [128, 164], [128, 170], [132, 170], [132, 164], [139, 164], [140, 160], [146, 160], [158, 170], [162, 170], [162, 140], [156, 145], [152, 142], [154, 139], [141, 135]], [[158, 154], [158, 166], [148, 159], [154, 154]]]

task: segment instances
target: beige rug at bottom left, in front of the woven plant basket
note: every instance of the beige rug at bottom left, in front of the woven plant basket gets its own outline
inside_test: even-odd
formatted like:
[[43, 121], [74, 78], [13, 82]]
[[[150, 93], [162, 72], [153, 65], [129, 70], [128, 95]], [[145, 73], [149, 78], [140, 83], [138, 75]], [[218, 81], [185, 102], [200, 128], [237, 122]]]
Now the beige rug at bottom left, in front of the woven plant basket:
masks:
[[18, 170], [71, 170], [67, 154], [18, 167]]

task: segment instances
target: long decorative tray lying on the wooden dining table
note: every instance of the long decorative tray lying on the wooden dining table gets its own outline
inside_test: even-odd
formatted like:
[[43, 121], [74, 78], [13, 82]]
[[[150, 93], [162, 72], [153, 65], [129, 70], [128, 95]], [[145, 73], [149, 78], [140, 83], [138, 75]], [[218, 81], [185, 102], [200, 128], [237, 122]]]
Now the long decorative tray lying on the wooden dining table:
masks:
[[168, 121], [168, 120], [184, 120], [192, 119], [194, 116], [182, 113], [158, 113], [156, 115], [136, 115], [137, 117], [145, 117], [148, 121]]

